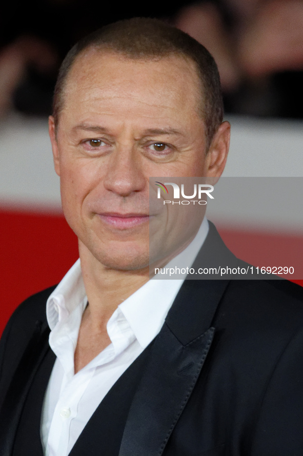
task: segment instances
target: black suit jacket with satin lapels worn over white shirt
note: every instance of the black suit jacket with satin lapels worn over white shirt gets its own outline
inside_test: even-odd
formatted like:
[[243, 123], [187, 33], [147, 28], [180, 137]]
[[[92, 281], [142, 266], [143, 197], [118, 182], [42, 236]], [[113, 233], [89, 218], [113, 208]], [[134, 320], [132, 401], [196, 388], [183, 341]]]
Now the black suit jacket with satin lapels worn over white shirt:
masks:
[[[195, 266], [214, 262], [214, 245], [243, 264], [211, 225]], [[3, 334], [1, 456], [48, 349], [52, 289], [19, 306]], [[119, 456], [302, 456], [302, 296], [283, 280], [186, 280], [150, 348]], [[90, 455], [100, 453], [94, 433], [88, 423]]]

